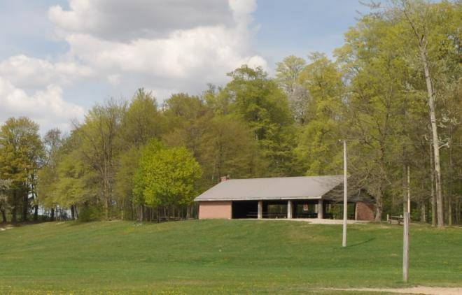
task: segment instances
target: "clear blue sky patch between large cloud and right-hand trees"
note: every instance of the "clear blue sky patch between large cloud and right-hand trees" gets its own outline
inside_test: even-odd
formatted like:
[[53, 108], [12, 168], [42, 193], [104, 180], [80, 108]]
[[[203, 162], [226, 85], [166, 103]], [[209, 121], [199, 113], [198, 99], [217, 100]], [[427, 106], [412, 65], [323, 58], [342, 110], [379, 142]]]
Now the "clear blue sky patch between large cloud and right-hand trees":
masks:
[[287, 55], [306, 57], [342, 46], [343, 34], [367, 7], [357, 0], [265, 0], [258, 2], [255, 48], [274, 64]]

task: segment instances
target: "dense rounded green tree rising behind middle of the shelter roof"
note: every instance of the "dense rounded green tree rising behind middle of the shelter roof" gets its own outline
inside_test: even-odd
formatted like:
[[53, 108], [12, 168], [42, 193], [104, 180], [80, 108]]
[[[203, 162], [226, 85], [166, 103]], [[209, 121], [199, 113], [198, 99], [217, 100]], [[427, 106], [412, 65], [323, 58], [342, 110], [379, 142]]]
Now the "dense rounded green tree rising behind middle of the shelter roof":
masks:
[[228, 74], [232, 80], [223, 95], [232, 102], [231, 112], [253, 131], [262, 159], [267, 161], [263, 175], [282, 176], [293, 171], [294, 129], [287, 96], [260, 68], [241, 66]]

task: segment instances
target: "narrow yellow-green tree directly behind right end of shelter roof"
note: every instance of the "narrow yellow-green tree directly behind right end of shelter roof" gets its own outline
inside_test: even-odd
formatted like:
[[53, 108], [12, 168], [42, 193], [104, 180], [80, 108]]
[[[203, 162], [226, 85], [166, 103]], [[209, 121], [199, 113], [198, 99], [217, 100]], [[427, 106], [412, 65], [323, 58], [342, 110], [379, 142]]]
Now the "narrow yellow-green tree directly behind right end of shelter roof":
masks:
[[307, 175], [325, 175], [341, 170], [341, 124], [344, 112], [342, 73], [335, 62], [314, 53], [300, 73], [299, 82], [309, 93], [304, 125], [295, 150]]

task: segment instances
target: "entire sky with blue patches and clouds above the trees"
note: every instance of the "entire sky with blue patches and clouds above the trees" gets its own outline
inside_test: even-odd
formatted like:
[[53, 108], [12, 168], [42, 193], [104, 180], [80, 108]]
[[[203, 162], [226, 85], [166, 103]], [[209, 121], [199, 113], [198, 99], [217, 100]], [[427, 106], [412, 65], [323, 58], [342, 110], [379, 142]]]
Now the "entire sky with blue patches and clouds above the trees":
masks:
[[66, 131], [140, 87], [162, 103], [242, 64], [332, 57], [360, 13], [358, 0], [0, 0], [0, 123]]

